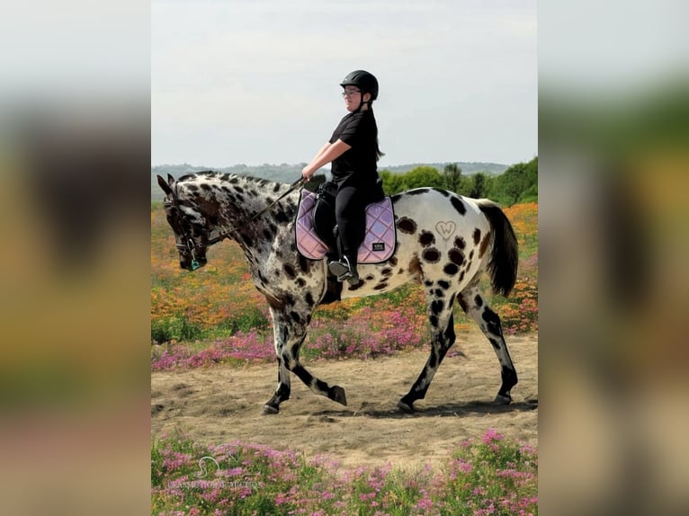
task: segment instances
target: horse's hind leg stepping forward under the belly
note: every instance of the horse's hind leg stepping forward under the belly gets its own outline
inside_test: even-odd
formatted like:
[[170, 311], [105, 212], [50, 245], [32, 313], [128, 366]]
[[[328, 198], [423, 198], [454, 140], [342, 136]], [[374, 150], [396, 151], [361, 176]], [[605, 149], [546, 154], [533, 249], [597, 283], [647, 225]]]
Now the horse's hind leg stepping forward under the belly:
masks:
[[445, 354], [452, 347], [455, 339], [454, 317], [452, 316], [454, 294], [450, 298], [444, 298], [444, 289], [436, 287], [431, 285], [426, 288], [426, 305], [428, 319], [431, 323], [431, 354], [407, 395], [398, 401], [398, 408], [407, 413], [414, 411], [414, 402], [417, 399], [425, 398], [425, 393], [431, 385], [435, 371], [440, 367]]

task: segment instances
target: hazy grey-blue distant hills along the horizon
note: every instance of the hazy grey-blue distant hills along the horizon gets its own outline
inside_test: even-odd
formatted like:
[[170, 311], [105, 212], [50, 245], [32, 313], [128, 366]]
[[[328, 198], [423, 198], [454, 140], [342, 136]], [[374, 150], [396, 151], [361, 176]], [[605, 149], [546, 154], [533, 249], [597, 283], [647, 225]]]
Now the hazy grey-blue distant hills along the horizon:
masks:
[[[448, 162], [450, 163], [450, 162]], [[380, 167], [380, 172], [383, 170], [389, 170], [391, 173], [406, 173], [417, 166], [433, 166], [440, 173], [443, 173], [443, 168], [448, 163], [415, 163], [411, 165], [395, 165], [395, 166], [385, 166]], [[470, 175], [472, 173], [484, 172], [492, 173], [498, 175], [506, 171], [510, 165], [500, 165], [497, 163], [465, 163], [465, 162], [452, 162], [456, 163], [457, 166], [461, 168], [461, 173], [464, 175]], [[288, 165], [283, 163], [282, 165], [232, 165], [223, 168], [218, 168], [214, 166], [199, 166], [199, 165], [189, 165], [185, 163], [183, 165], [156, 165], [151, 167], [151, 200], [163, 200], [163, 191], [157, 184], [156, 176], [162, 175], [167, 177], [170, 173], [174, 178], [183, 176], [185, 173], [201, 172], [202, 170], [216, 170], [223, 173], [237, 173], [242, 175], [251, 175], [254, 177], [260, 177], [262, 179], [267, 179], [274, 182], [295, 182], [299, 179], [301, 174], [301, 169], [307, 164], [301, 163], [296, 165]]]

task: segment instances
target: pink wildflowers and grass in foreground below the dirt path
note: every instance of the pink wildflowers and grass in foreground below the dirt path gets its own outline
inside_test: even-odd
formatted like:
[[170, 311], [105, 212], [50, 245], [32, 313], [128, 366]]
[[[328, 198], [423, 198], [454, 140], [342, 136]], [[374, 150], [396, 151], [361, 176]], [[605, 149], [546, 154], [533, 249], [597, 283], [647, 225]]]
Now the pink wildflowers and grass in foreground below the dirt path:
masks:
[[437, 470], [389, 463], [343, 470], [327, 457], [241, 442], [202, 446], [179, 436], [155, 440], [151, 463], [152, 514], [538, 513], [535, 450], [494, 429], [464, 441]]

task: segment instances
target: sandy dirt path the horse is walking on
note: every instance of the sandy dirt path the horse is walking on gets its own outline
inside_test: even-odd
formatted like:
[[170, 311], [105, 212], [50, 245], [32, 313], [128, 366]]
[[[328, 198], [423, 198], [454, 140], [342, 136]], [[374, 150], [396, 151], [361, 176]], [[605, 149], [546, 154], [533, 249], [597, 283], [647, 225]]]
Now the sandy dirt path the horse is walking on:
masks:
[[399, 413], [395, 405], [421, 371], [427, 351], [306, 363], [318, 378], [345, 388], [348, 406], [313, 395], [292, 377], [291, 399], [273, 416], [261, 415], [277, 383], [273, 363], [153, 373], [151, 434], [180, 430], [206, 444], [241, 440], [303, 450], [307, 457], [327, 454], [345, 467], [441, 464], [462, 440], [478, 438], [488, 428], [535, 446], [538, 336], [510, 337], [507, 344], [519, 375], [509, 406], [492, 404], [499, 367], [476, 330], [458, 334], [413, 415]]

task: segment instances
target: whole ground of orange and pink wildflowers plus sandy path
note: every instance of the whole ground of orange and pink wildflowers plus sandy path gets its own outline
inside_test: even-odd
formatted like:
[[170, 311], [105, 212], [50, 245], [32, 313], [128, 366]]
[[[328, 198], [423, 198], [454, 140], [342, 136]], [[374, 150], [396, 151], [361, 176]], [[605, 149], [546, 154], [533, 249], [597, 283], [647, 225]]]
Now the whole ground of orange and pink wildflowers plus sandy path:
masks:
[[347, 388], [347, 407], [296, 380], [264, 417], [273, 334], [243, 254], [226, 241], [200, 271], [180, 270], [152, 204], [151, 514], [537, 514], [537, 211], [506, 209], [518, 280], [490, 300], [520, 378], [512, 405], [490, 403], [497, 360], [456, 307], [456, 345], [417, 413], [398, 414], [428, 353], [423, 294], [409, 285], [318, 307], [301, 357]]

